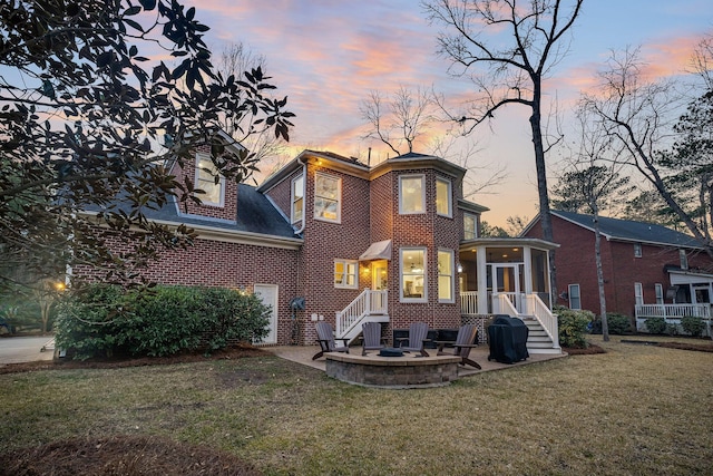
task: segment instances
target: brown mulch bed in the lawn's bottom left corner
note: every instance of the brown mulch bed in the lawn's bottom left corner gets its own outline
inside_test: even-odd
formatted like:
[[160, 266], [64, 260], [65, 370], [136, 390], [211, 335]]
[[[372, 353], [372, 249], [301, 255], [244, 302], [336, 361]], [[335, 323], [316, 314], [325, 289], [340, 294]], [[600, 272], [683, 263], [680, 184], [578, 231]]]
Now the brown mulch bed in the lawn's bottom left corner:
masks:
[[228, 453], [155, 436], [72, 439], [0, 451], [0, 476], [261, 474]]

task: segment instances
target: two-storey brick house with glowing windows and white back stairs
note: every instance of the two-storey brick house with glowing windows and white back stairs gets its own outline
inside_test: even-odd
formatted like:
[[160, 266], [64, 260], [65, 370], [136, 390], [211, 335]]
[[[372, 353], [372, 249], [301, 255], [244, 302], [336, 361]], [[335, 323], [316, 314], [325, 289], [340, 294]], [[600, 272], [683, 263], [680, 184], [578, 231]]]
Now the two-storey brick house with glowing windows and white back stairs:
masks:
[[[202, 205], [147, 212], [149, 220], [193, 227], [194, 246], [166, 251], [144, 275], [261, 294], [273, 308], [265, 343], [313, 344], [316, 320], [349, 339], [365, 321], [382, 322], [389, 337], [414, 321], [431, 329], [473, 321], [482, 336], [488, 314], [517, 314], [521, 302], [528, 315], [544, 315], [544, 329], [534, 329], [547, 336], [543, 351], [559, 351], [556, 320], [553, 328], [537, 298], [548, 293], [547, 253], [555, 245], [479, 239], [487, 208], [462, 200], [465, 168], [421, 154], [370, 167], [304, 150], [255, 188], [203, 181], [206, 158], [198, 150], [194, 164], [173, 171], [207, 192]], [[512, 249], [519, 251], [502, 258]], [[516, 285], [517, 300], [507, 294]], [[291, 305], [295, 298], [304, 309]]]

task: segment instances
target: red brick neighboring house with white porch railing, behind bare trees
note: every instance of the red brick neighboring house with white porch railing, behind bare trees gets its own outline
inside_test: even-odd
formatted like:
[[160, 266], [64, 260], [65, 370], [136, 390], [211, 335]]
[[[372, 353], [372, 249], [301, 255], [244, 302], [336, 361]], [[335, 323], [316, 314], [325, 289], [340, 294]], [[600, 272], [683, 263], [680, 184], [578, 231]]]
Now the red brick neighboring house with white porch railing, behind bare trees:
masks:
[[[598, 314], [594, 217], [553, 211], [560, 304]], [[637, 318], [710, 318], [713, 260], [690, 235], [651, 223], [599, 217], [607, 312]], [[521, 236], [543, 236], [539, 216]]]

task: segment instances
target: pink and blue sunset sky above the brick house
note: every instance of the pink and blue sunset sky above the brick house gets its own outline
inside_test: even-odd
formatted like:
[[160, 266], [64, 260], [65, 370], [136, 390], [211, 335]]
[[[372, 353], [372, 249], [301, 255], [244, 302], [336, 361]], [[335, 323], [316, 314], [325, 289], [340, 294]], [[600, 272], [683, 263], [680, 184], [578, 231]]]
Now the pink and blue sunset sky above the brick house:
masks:
[[[211, 27], [207, 42], [219, 52], [243, 42], [266, 57], [267, 72], [289, 109], [296, 114], [292, 155], [304, 148], [367, 157], [372, 164], [388, 149], [362, 139], [360, 101], [370, 91], [390, 94], [401, 85], [434, 87], [447, 98], [468, 97], [472, 84], [448, 75], [449, 62], [436, 55], [439, 26], [430, 26], [417, 0], [186, 0]], [[657, 75], [680, 72], [700, 38], [713, 32], [710, 0], [589, 0], [576, 22], [569, 54], [546, 88], [566, 109], [611, 50], [642, 46]], [[512, 215], [537, 214], [537, 186], [527, 109], [511, 106], [490, 127], [472, 136], [476, 163], [501, 164], [507, 179], [495, 194], [471, 200], [488, 206], [484, 220], [504, 225]], [[427, 152], [427, 150], [417, 150]], [[393, 154], [392, 154], [393, 155]], [[550, 171], [556, 165], [550, 165]], [[478, 172], [482, 174], [484, 172]], [[550, 175], [553, 175], [550, 173]], [[550, 178], [550, 183], [551, 183]]]

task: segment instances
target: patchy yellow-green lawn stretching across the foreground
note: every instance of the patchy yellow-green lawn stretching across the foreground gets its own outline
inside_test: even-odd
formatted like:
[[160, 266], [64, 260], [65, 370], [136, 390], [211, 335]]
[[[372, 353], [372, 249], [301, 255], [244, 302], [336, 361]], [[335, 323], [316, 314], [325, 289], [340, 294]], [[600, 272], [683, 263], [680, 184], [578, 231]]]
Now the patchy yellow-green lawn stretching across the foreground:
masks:
[[276, 357], [0, 376], [0, 446], [168, 438], [267, 475], [710, 474], [713, 353], [607, 351], [367, 389]]

